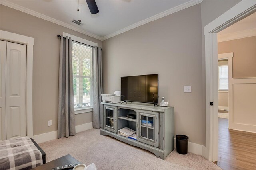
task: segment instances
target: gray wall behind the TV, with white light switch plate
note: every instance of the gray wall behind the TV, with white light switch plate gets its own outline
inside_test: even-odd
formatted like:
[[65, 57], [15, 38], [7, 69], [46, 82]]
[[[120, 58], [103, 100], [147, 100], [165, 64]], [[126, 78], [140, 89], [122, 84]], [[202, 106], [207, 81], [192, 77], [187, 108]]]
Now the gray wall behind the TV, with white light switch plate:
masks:
[[200, 4], [107, 39], [103, 47], [104, 93], [120, 90], [121, 76], [158, 73], [159, 99], [174, 106], [175, 134], [204, 144]]

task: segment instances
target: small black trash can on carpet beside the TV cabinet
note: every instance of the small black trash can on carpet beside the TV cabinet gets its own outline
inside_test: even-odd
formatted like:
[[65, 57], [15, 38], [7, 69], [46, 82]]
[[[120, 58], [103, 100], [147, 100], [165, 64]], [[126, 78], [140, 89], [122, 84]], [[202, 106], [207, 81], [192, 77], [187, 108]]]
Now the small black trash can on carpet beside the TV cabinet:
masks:
[[186, 135], [176, 135], [176, 149], [179, 154], [188, 153], [188, 137]]

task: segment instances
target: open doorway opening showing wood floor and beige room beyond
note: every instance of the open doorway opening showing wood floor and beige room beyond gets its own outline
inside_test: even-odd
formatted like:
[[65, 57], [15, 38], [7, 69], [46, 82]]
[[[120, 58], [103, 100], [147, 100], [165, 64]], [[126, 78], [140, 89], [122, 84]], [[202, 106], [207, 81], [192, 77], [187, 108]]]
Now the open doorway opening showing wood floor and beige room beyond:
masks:
[[[217, 165], [224, 170], [256, 168], [254, 163], [256, 131], [253, 130], [256, 126], [255, 20], [256, 13], [217, 34], [219, 94]], [[229, 110], [229, 106], [230, 112], [225, 113]], [[228, 114], [228, 117], [224, 114]], [[230, 119], [226, 119], [229, 117]]]

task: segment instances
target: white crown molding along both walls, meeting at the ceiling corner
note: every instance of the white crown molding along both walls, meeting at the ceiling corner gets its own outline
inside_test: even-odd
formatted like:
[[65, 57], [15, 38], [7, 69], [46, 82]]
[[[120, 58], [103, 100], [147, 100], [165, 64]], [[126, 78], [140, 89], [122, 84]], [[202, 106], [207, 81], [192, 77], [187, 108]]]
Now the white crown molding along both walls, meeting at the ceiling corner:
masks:
[[13, 8], [13, 9], [15, 9], [15, 10], [19, 10], [19, 11], [21, 11], [21, 12], [25, 12], [25, 13], [30, 14], [30, 15], [32, 15], [32, 16], [36, 16], [36, 17], [38, 17], [38, 18], [42, 18], [42, 19], [44, 19], [44, 20], [46, 20], [46, 21], [50, 21], [50, 22], [52, 22], [52, 23], [56, 23], [56, 24], [58, 24], [58, 25], [61, 25], [61, 26], [63, 26], [63, 27], [66, 27], [66, 28], [68, 28], [68, 29], [72, 29], [72, 30], [77, 31], [77, 32], [79, 32], [79, 33], [82, 33], [82, 34], [88, 35], [88, 36], [90, 36], [90, 37], [96, 38], [96, 39], [98, 39], [98, 40], [100, 40], [100, 41], [104, 41], [104, 40], [106, 40], [106, 39], [109, 39], [109, 38], [111, 38], [111, 37], [114, 37], [114, 36], [116, 36], [116, 35], [119, 35], [119, 34], [121, 34], [121, 33], [124, 33], [124, 32], [126, 32], [126, 31], [129, 31], [129, 30], [131, 30], [131, 29], [134, 29], [134, 28], [136, 28], [136, 27], [139, 27], [139, 26], [141, 26], [141, 25], [144, 25], [144, 24], [146, 24], [146, 23], [149, 23], [149, 22], [151, 22], [151, 21], [154, 21], [154, 20], [157, 20], [157, 19], [162, 18], [162, 17], [164, 17], [164, 16], [173, 14], [173, 13], [175, 13], [175, 12], [178, 12], [178, 11], [180, 11], [180, 10], [183, 10], [183, 9], [185, 9], [185, 8], [188, 8], [188, 7], [190, 7], [190, 6], [194, 6], [194, 5], [196, 5], [196, 4], [200, 4], [202, 1], [203, 1], [203, 0], [190, 0], [189, 2], [186, 2], [186, 3], [184, 3], [184, 4], [181, 4], [181, 5], [179, 5], [179, 6], [176, 6], [176, 7], [174, 7], [174, 8], [169, 9], [169, 10], [166, 10], [166, 11], [164, 11], [164, 12], [161, 12], [161, 13], [159, 13], [159, 14], [156, 14], [156, 15], [154, 15], [154, 16], [152, 16], [152, 17], [150, 17], [150, 18], [147, 18], [147, 19], [145, 19], [145, 20], [142, 20], [142, 21], [139, 21], [139, 22], [137, 22], [137, 23], [134, 23], [134, 24], [132, 24], [132, 25], [130, 25], [130, 26], [128, 26], [128, 27], [125, 27], [125, 28], [123, 28], [123, 29], [120, 29], [119, 31], [116, 31], [116, 32], [114, 32], [114, 33], [110, 33], [110, 34], [108, 34], [108, 35], [106, 35], [106, 36], [104, 36], [104, 37], [100, 37], [100, 36], [98, 36], [98, 35], [95, 35], [95, 34], [93, 34], [93, 33], [90, 33], [90, 32], [88, 32], [88, 31], [85, 31], [84, 29], [75, 27], [75, 26], [73, 26], [73, 25], [70, 25], [70, 24], [68, 24], [68, 23], [64, 23], [64, 22], [62, 22], [62, 21], [56, 20], [56, 19], [54, 19], [54, 18], [51, 18], [51, 17], [46, 16], [46, 15], [44, 15], [44, 14], [41, 14], [41, 13], [39, 13], [39, 12], [36, 12], [36, 11], [30, 10], [30, 9], [28, 9], [28, 8], [25, 8], [25, 7], [23, 7], [23, 6], [14, 4], [14, 3], [12, 3], [12, 2], [10, 2], [10, 1], [8, 1], [8, 0], [0, 0], [0, 4], [2, 4], [2, 5], [4, 5], [4, 6], [8, 6], [8, 7], [10, 7], [10, 8]]

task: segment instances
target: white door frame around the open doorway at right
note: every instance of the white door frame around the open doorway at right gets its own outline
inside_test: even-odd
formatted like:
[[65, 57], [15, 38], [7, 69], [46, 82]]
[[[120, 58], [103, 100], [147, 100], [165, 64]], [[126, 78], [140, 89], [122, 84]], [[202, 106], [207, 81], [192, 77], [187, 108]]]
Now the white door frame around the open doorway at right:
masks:
[[[242, 0], [204, 27], [206, 76], [206, 146], [203, 156], [218, 160], [218, 44], [217, 33], [256, 11], [255, 0]], [[210, 106], [210, 102], [214, 102]]]

